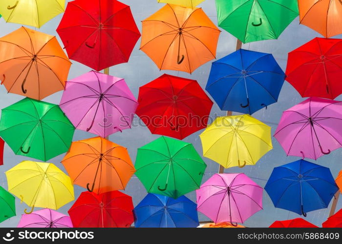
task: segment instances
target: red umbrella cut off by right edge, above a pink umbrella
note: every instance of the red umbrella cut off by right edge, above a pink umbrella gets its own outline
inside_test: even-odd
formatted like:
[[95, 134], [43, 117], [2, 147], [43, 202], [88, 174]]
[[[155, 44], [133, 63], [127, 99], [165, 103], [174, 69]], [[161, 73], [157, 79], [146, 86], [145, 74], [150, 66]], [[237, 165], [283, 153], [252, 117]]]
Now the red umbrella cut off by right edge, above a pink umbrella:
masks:
[[342, 41], [315, 38], [288, 55], [286, 80], [302, 97], [335, 99], [342, 93]]

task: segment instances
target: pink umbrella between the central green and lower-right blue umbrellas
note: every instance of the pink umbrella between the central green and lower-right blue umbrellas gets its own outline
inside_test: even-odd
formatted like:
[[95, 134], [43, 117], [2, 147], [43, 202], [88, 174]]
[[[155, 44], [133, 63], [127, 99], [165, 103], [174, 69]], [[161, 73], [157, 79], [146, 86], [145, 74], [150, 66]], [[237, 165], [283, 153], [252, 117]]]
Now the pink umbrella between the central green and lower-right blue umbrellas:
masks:
[[243, 173], [214, 174], [196, 190], [197, 210], [215, 223], [243, 223], [262, 209], [262, 191]]

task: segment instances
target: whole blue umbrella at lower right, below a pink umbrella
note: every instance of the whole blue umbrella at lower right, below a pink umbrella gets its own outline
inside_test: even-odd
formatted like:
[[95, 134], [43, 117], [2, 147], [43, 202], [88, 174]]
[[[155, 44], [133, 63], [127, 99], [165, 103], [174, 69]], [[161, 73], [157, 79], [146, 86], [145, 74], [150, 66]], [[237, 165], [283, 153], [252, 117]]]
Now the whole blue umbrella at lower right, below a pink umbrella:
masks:
[[330, 169], [305, 160], [273, 169], [265, 190], [275, 207], [303, 214], [327, 208], [339, 190]]

